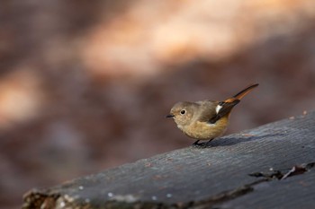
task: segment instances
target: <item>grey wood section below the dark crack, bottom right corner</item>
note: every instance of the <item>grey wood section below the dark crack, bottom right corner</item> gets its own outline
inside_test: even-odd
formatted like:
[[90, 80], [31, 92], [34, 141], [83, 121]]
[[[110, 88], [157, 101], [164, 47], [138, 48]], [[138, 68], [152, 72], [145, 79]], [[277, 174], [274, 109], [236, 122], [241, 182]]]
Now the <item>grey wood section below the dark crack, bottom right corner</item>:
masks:
[[219, 208], [314, 208], [315, 172], [254, 187], [255, 192], [217, 205]]

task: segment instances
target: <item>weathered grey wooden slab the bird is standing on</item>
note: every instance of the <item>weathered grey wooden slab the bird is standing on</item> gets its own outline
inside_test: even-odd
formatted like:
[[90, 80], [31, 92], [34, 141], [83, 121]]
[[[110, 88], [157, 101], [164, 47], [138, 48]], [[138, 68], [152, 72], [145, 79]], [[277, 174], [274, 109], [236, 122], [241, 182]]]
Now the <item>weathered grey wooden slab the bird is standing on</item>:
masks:
[[[187, 147], [33, 189], [23, 207], [315, 208], [314, 162], [312, 112], [221, 137], [209, 148]], [[284, 179], [294, 166], [299, 172]]]

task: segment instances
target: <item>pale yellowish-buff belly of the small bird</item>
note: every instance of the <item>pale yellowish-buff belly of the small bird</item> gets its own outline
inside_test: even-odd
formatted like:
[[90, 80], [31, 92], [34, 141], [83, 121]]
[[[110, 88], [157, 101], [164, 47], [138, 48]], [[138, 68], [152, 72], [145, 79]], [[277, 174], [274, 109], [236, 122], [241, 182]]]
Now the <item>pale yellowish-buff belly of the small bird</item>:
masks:
[[185, 135], [195, 139], [207, 140], [223, 135], [227, 129], [228, 121], [221, 118], [215, 124], [196, 121], [190, 126], [184, 126], [180, 129]]

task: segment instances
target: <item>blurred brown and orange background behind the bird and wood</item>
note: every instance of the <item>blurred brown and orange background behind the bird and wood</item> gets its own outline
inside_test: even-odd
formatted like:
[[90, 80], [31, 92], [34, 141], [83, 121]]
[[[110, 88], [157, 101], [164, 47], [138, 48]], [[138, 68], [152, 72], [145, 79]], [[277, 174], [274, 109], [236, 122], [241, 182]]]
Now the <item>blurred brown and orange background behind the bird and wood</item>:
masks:
[[0, 207], [193, 143], [179, 100], [260, 83], [228, 134], [315, 106], [315, 1], [0, 2]]

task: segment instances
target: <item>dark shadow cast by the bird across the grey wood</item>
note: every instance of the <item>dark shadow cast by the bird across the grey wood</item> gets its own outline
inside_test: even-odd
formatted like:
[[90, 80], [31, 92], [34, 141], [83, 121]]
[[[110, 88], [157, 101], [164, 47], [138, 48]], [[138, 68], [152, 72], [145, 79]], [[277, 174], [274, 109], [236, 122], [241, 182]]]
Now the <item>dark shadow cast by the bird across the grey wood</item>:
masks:
[[281, 133], [277, 134], [266, 134], [266, 135], [231, 135], [229, 137], [222, 137], [214, 139], [211, 141], [209, 147], [219, 147], [219, 146], [231, 146], [239, 143], [247, 143], [251, 141], [264, 140], [266, 138], [284, 135]]

